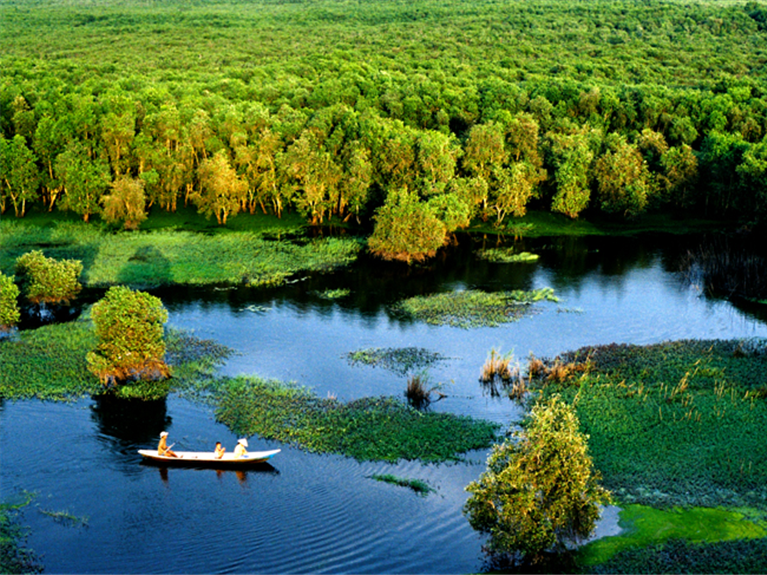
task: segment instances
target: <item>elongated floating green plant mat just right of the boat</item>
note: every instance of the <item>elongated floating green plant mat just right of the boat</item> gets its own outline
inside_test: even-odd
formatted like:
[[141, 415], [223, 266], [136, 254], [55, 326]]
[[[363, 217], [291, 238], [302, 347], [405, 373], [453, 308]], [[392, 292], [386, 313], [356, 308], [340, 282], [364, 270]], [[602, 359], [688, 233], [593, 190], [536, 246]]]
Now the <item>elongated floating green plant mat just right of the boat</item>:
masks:
[[216, 418], [242, 435], [258, 434], [316, 453], [360, 461], [458, 461], [496, 439], [498, 425], [449, 413], [422, 413], [390, 397], [343, 403], [304, 387], [255, 377], [215, 383]]

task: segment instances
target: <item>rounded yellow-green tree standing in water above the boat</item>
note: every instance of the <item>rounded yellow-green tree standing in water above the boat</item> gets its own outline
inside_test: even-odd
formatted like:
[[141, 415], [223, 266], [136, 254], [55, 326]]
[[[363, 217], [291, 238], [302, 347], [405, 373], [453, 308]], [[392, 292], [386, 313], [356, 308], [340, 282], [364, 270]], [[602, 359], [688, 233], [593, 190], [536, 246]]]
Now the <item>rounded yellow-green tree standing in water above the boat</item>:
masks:
[[99, 343], [88, 353], [88, 369], [102, 383], [170, 375], [164, 359], [168, 311], [160, 298], [125, 286], [111, 287], [94, 304], [91, 318]]

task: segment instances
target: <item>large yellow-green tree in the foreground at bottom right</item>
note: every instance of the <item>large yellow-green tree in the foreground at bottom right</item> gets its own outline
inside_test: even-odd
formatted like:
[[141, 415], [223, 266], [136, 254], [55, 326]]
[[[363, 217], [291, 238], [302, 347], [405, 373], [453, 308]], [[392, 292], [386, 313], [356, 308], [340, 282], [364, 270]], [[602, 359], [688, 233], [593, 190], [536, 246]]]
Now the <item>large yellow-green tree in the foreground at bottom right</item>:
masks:
[[572, 407], [558, 396], [538, 403], [514, 440], [496, 445], [466, 490], [471, 526], [489, 535], [491, 555], [536, 562], [588, 537], [609, 493], [588, 454]]

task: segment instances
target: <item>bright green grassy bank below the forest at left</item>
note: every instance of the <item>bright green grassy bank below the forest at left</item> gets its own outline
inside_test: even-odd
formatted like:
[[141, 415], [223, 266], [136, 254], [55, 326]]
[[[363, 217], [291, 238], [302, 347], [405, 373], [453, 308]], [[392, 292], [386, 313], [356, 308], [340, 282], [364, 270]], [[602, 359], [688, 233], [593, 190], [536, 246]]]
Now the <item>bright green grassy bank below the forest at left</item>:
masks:
[[16, 258], [41, 249], [48, 257], [81, 260], [87, 287], [278, 285], [296, 273], [349, 264], [362, 248], [346, 238], [275, 239], [279, 229], [268, 226], [204, 234], [170, 228], [109, 233], [83, 222], [49, 224], [0, 220], [0, 270], [12, 274]]

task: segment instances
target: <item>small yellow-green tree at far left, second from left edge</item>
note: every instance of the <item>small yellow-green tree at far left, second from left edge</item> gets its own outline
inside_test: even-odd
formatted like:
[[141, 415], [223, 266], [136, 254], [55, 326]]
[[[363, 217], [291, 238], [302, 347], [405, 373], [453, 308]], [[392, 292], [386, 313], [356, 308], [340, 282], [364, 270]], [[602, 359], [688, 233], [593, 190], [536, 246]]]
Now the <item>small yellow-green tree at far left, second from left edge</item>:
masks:
[[79, 260], [48, 258], [39, 250], [25, 253], [16, 260], [16, 275], [24, 297], [33, 304], [69, 305], [80, 293], [79, 278], [83, 264]]

